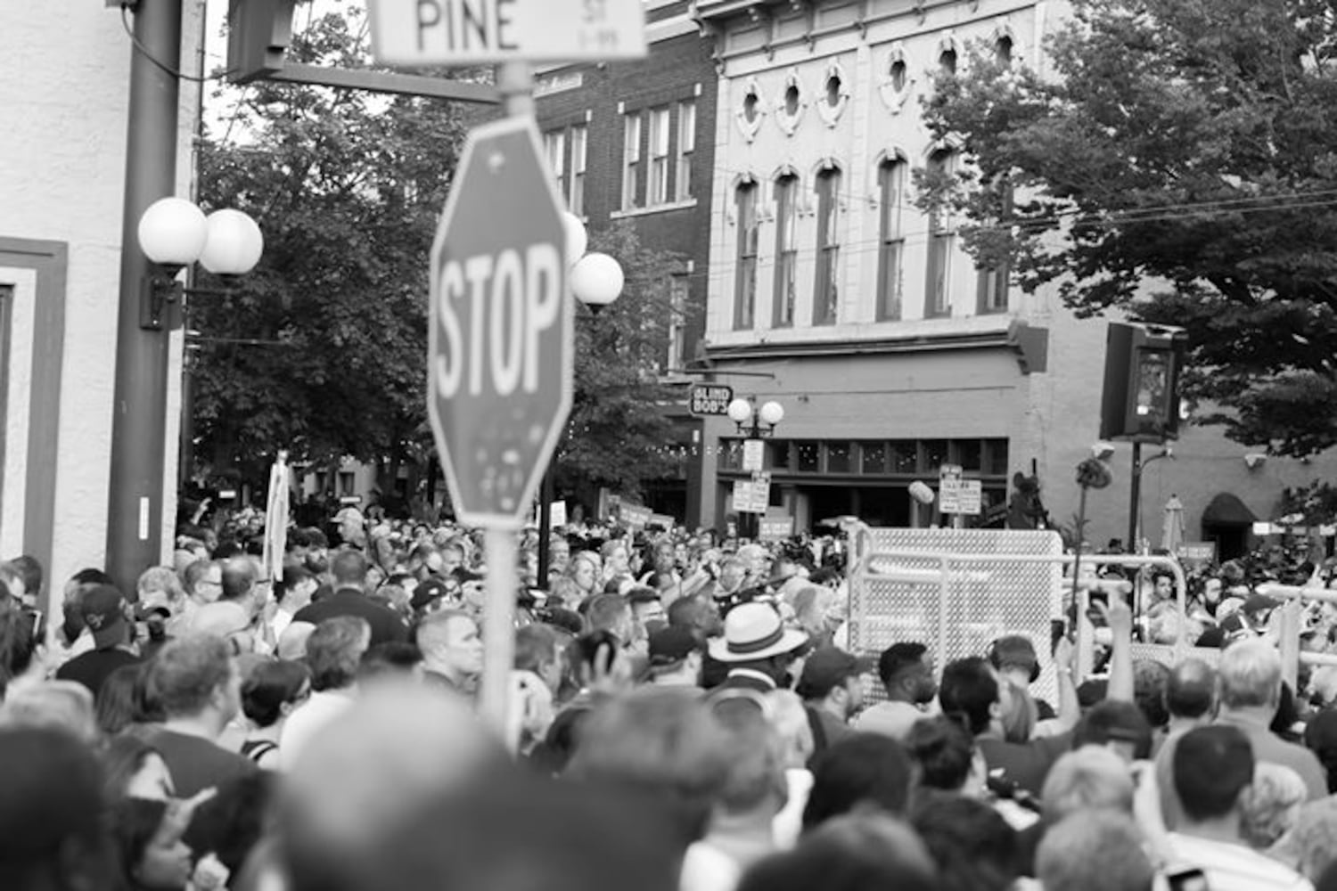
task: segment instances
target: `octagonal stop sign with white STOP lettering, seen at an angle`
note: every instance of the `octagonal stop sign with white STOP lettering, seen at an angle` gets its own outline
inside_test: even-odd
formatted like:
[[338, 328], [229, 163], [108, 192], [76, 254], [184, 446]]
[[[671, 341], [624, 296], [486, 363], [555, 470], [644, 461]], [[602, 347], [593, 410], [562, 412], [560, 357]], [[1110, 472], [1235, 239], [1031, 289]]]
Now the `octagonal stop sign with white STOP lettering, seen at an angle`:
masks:
[[428, 417], [471, 525], [523, 520], [571, 411], [560, 207], [532, 118], [469, 134], [432, 246]]

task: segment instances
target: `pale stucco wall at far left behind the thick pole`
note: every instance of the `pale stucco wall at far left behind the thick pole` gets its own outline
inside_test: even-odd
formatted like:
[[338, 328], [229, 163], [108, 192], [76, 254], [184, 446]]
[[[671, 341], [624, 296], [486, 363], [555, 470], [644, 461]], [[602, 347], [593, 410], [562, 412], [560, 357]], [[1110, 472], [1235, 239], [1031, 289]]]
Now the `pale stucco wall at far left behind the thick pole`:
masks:
[[[182, 57], [167, 63], [191, 69], [203, 3], [185, 5]], [[106, 556], [132, 49], [120, 11], [102, 4], [4, 4], [0, 32], [7, 47], [0, 55], [5, 115], [0, 235], [66, 242], [70, 251], [59, 454], [29, 458], [57, 462], [55, 544], [47, 569], [59, 588], [76, 569], [102, 566]], [[190, 194], [189, 138], [198, 95], [198, 87], [182, 85], [176, 194], [183, 196]], [[170, 443], [176, 442], [178, 429], [179, 333], [172, 342]], [[164, 537], [175, 514], [174, 445], [168, 452]]]

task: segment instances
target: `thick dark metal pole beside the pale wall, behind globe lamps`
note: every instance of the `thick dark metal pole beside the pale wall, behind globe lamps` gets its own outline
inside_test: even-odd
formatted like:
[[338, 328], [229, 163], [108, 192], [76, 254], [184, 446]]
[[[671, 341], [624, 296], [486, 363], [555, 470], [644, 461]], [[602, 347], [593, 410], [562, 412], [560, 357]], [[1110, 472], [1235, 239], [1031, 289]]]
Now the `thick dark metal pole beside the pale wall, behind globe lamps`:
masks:
[[176, 188], [179, 83], [146, 53], [172, 68], [179, 64], [182, 5], [178, 0], [142, 0], [135, 8], [135, 37], [143, 51], [131, 49], [107, 504], [107, 572], [122, 590], [134, 590], [139, 573], [162, 560], [171, 325], [160, 331], [139, 327], [148, 258], [135, 232], [144, 210]]

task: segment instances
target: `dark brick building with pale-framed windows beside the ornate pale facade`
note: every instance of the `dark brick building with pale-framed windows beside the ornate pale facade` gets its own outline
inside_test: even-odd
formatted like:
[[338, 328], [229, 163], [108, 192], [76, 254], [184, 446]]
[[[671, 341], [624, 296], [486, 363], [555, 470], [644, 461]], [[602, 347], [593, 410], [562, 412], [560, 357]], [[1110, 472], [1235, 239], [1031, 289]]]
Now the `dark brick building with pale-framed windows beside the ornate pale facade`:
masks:
[[[632, 220], [642, 242], [681, 258], [675, 299], [695, 307], [675, 325], [660, 374], [683, 397], [679, 373], [705, 330], [714, 175], [715, 61], [687, 0], [646, 0], [650, 52], [634, 61], [583, 63], [537, 72], [535, 99], [544, 151], [571, 212], [590, 231]], [[648, 505], [699, 522], [699, 422], [685, 399], [671, 409], [686, 456], [679, 480], [655, 484]]]

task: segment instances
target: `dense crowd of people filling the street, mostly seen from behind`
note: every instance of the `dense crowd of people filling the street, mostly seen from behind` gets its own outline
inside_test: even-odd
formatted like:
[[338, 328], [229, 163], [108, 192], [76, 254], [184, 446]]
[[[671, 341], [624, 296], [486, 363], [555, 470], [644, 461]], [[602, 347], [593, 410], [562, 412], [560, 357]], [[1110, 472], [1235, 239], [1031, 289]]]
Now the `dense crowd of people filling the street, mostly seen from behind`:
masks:
[[850, 652], [838, 537], [582, 525], [512, 569], [346, 509], [269, 577], [262, 533], [183, 526], [134, 590], [0, 564], [0, 888], [1337, 890], [1337, 668], [1292, 689], [1234, 584], [1195, 609], [1253, 618], [1165, 665], [1134, 640], [1173, 597], [1132, 580], [1083, 676], [1066, 635]]

